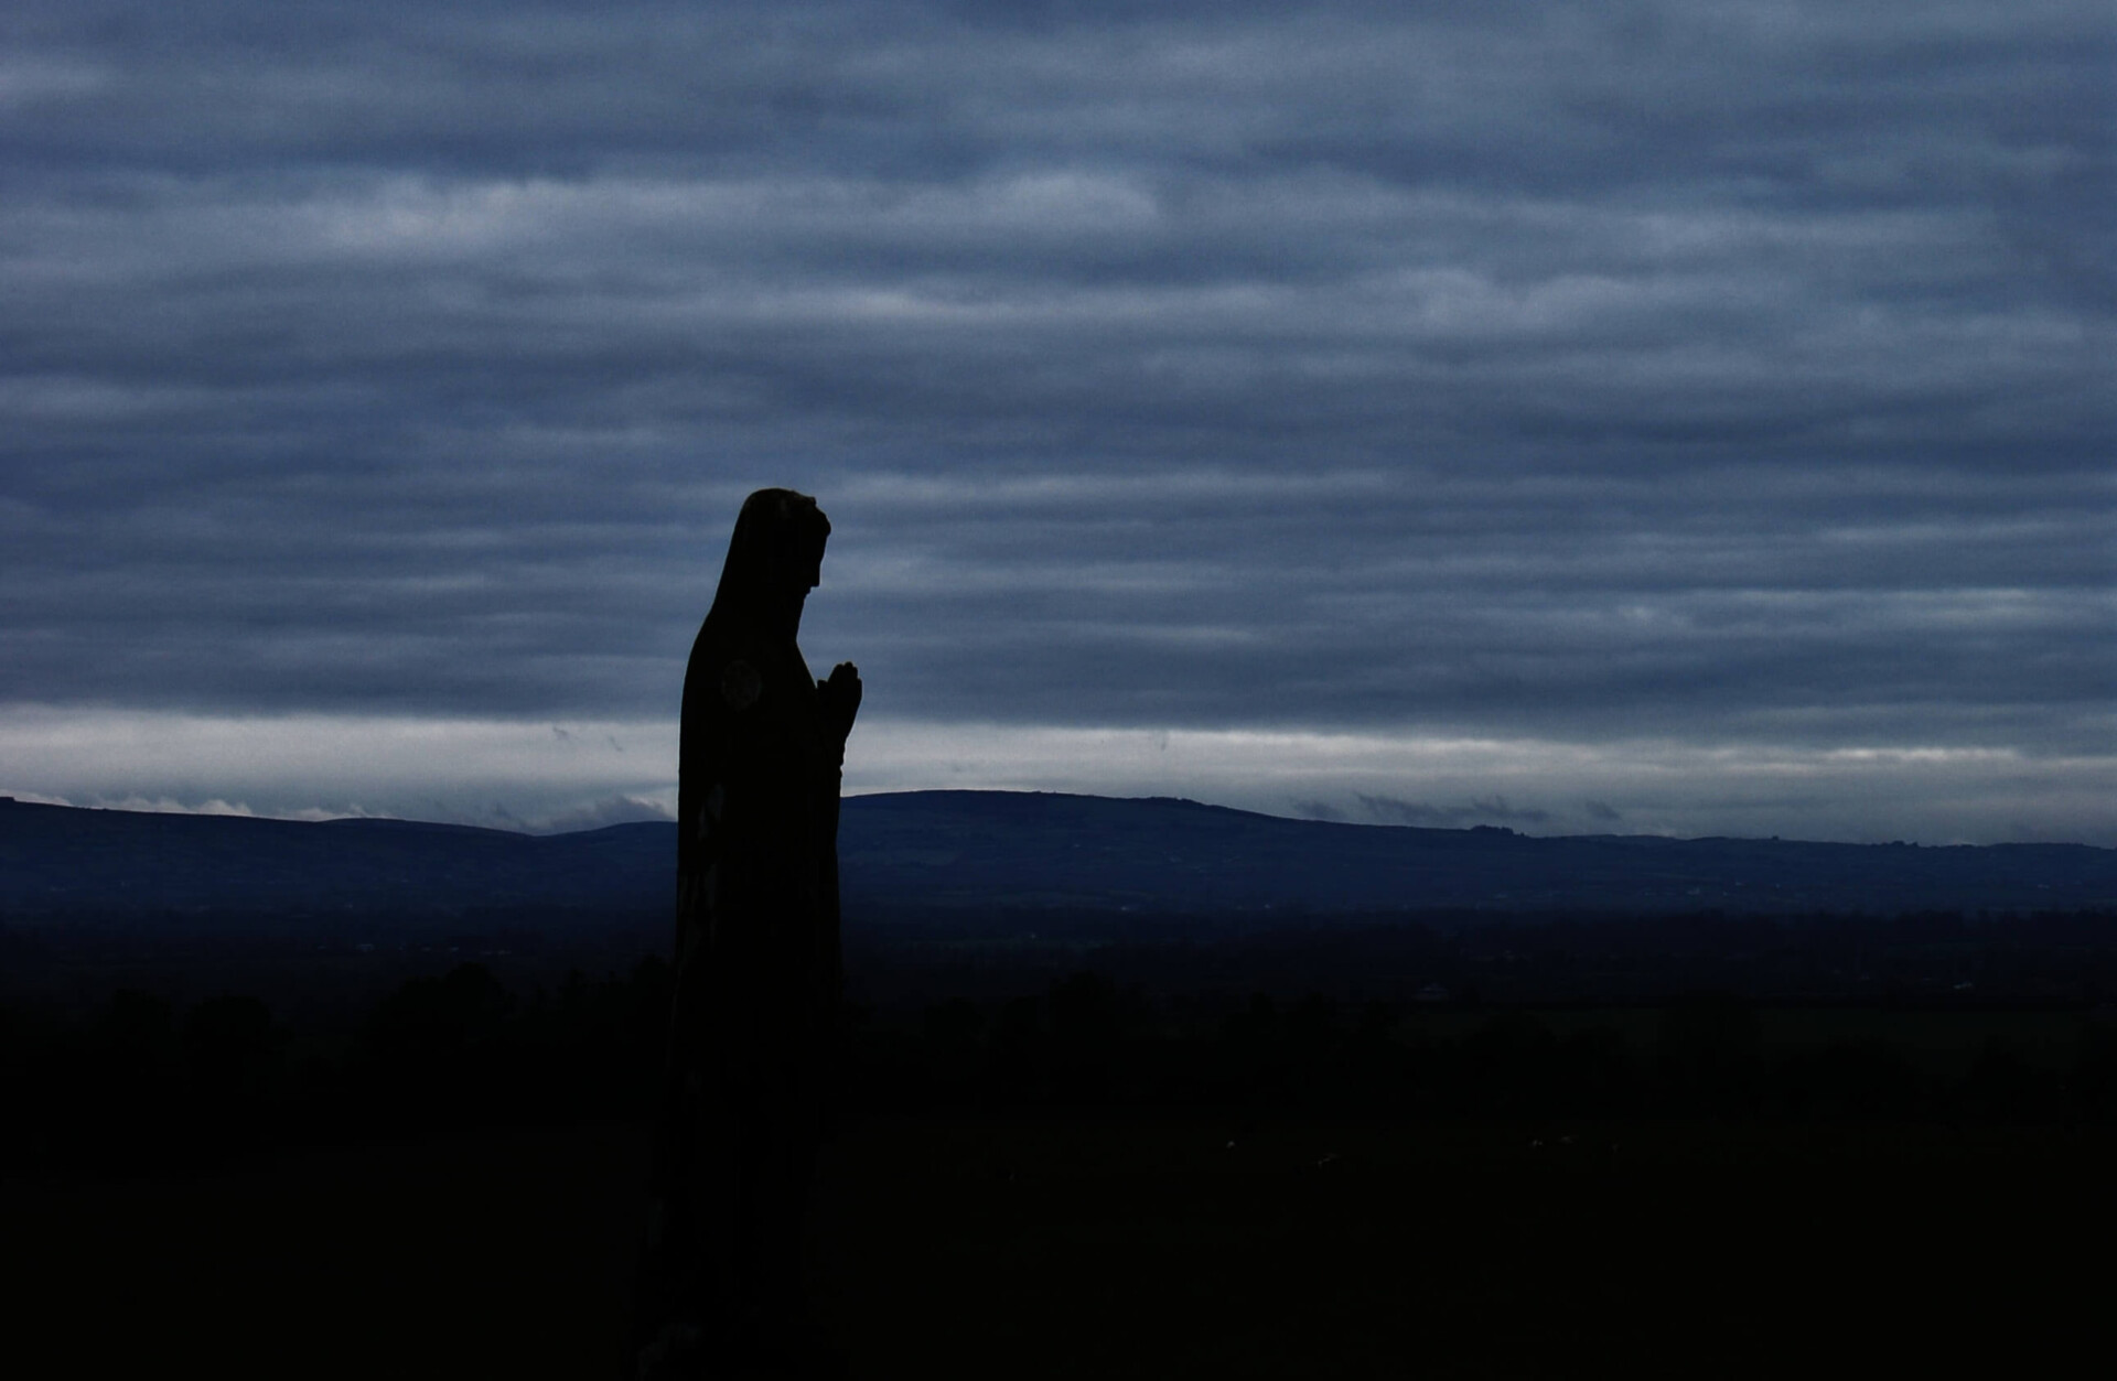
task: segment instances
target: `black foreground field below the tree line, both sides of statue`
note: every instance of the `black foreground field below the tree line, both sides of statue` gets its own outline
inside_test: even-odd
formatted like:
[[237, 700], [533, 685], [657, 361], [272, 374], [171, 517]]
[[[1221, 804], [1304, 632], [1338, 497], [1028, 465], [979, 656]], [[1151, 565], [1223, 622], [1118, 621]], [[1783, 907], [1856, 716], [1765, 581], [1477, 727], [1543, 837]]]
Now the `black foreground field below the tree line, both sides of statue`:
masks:
[[[644, 1153], [605, 1123], [17, 1180], [8, 1373], [610, 1377]], [[868, 1117], [817, 1301], [862, 1377], [2100, 1370], [2111, 1165], [2058, 1129]]]

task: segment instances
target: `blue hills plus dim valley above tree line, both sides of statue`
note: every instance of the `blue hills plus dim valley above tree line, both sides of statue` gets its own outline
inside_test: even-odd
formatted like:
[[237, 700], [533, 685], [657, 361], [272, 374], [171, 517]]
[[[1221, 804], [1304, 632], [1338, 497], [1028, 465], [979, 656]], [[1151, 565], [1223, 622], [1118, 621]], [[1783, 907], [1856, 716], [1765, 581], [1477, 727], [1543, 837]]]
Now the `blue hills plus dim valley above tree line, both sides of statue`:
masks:
[[[135, 983], [364, 1009], [483, 962], [517, 988], [669, 945], [673, 825], [523, 835], [0, 806], [4, 986]], [[1158, 996], [2098, 1002], [2117, 850], [1287, 821], [1173, 799], [849, 797], [855, 1000], [1018, 996], [1075, 969]], [[1440, 992], [1429, 992], [1429, 990]]]

